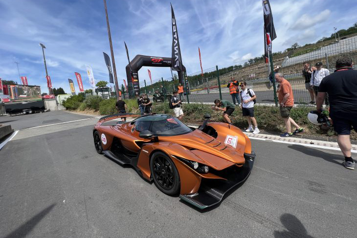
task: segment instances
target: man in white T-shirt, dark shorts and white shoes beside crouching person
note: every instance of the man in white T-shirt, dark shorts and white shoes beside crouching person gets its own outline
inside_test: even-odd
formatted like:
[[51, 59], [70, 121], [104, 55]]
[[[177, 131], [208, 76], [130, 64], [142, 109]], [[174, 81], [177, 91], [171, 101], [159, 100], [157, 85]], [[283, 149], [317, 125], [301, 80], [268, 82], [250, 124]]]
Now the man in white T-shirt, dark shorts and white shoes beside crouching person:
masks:
[[[254, 117], [254, 100], [257, 98], [254, 91], [246, 87], [246, 82], [241, 82], [239, 86], [242, 88], [241, 97], [242, 97], [242, 113], [245, 116], [246, 121], [248, 122], [249, 128], [245, 130], [246, 132], [253, 132], [253, 134], [258, 134], [260, 130], [258, 129], [257, 120]], [[252, 122], [254, 125], [254, 130], [252, 127]]]

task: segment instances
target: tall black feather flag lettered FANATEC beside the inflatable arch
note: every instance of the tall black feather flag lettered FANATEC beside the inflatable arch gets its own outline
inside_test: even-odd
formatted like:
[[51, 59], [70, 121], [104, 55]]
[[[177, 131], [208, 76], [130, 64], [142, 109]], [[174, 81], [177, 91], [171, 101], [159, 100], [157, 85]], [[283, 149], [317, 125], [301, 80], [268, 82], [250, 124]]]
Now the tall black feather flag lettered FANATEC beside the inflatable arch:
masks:
[[171, 5], [171, 20], [172, 20], [171, 21], [172, 22], [172, 54], [171, 54], [172, 70], [183, 71], [181, 50], [180, 50], [180, 43], [179, 43], [179, 33], [177, 30], [175, 13], [174, 13], [174, 9], [172, 8], [172, 5]]

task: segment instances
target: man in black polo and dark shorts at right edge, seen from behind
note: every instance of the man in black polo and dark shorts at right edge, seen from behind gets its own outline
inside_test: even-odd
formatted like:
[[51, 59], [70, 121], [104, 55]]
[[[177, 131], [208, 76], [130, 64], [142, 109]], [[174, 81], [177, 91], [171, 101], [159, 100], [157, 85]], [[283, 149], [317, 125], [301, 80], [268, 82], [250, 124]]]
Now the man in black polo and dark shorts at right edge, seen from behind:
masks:
[[317, 99], [317, 111], [321, 111], [326, 93], [330, 100], [330, 117], [338, 134], [337, 142], [347, 169], [354, 170], [355, 162], [351, 157], [350, 133], [352, 127], [357, 131], [357, 70], [352, 69], [352, 59], [339, 58], [335, 73], [322, 79]]

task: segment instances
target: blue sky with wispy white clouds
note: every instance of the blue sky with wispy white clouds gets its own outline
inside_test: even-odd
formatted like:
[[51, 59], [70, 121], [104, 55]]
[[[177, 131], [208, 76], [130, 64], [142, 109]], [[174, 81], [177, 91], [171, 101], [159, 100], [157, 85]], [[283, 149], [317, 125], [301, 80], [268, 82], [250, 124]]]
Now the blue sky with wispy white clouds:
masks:
[[[171, 0], [178, 24], [183, 64], [187, 73], [238, 64], [264, 53], [261, 0]], [[273, 51], [298, 42], [313, 43], [334, 30], [357, 22], [357, 5], [351, 0], [270, 0], [277, 38]], [[167, 0], [107, 0], [119, 85], [126, 79], [135, 55], [171, 57], [171, 9]], [[48, 74], [53, 87], [69, 92], [67, 78], [93, 68], [96, 81], [109, 82], [103, 51], [110, 55], [103, 0], [0, 0], [0, 78], [41, 86], [47, 92], [45, 67], [39, 43], [46, 46]], [[153, 79], [171, 77], [169, 68], [150, 68]], [[149, 81], [147, 67], [139, 79]], [[75, 83], [76, 92], [78, 85]]]

